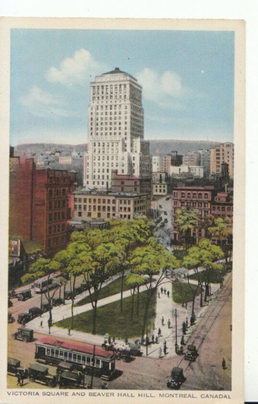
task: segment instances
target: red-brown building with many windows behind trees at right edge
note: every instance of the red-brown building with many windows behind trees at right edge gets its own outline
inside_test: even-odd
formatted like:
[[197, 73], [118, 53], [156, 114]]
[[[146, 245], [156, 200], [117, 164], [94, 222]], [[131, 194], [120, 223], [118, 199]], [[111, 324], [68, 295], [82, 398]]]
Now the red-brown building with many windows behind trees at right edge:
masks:
[[[172, 239], [178, 239], [176, 226], [176, 211], [178, 208], [198, 210], [201, 218], [213, 215], [215, 217], [233, 217], [233, 193], [218, 192], [211, 186], [181, 186], [172, 192]], [[204, 222], [204, 221], [203, 221]], [[207, 236], [207, 227], [198, 226], [192, 236], [201, 238]]]

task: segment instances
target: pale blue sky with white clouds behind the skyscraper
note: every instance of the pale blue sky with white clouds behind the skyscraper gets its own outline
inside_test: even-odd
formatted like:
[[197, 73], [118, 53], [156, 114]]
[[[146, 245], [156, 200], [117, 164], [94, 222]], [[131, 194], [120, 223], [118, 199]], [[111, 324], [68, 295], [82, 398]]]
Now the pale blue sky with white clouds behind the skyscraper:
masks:
[[115, 67], [145, 139], [233, 141], [234, 32], [12, 29], [10, 144], [87, 142], [89, 83]]

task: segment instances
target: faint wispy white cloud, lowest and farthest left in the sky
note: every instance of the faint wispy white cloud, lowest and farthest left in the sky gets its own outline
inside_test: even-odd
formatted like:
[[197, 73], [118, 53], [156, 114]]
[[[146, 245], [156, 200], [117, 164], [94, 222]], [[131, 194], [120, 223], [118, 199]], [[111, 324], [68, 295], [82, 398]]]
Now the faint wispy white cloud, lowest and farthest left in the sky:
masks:
[[37, 86], [31, 87], [27, 95], [20, 98], [20, 104], [36, 117], [71, 116], [73, 112], [64, 108], [64, 102], [57, 96], [41, 90]]

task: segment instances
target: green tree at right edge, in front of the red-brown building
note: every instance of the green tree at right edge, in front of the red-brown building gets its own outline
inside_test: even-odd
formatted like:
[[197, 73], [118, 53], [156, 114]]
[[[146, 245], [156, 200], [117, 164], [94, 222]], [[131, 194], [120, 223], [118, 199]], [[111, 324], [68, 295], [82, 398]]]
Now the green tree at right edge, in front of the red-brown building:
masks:
[[224, 252], [226, 263], [231, 259], [233, 245], [233, 221], [231, 218], [217, 218], [213, 226], [209, 227], [211, 237], [215, 238]]

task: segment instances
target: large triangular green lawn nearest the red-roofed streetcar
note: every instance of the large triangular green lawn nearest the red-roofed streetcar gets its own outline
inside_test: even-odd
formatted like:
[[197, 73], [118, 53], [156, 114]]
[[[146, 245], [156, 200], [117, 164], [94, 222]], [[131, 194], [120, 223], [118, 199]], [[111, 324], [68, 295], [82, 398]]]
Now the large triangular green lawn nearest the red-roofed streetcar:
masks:
[[[139, 295], [139, 316], [136, 315], [137, 294], [134, 296], [134, 315], [131, 319], [132, 296], [123, 299], [123, 314], [120, 314], [120, 300], [114, 301], [106, 306], [97, 309], [96, 333], [105, 335], [107, 332], [116, 338], [133, 338], [141, 336], [142, 321], [144, 315], [147, 291]], [[152, 329], [155, 315], [156, 293], [153, 294], [148, 309], [148, 329]], [[55, 326], [68, 328], [71, 325], [71, 318], [55, 323]], [[78, 314], [74, 317], [74, 330], [92, 332], [92, 310]]]

